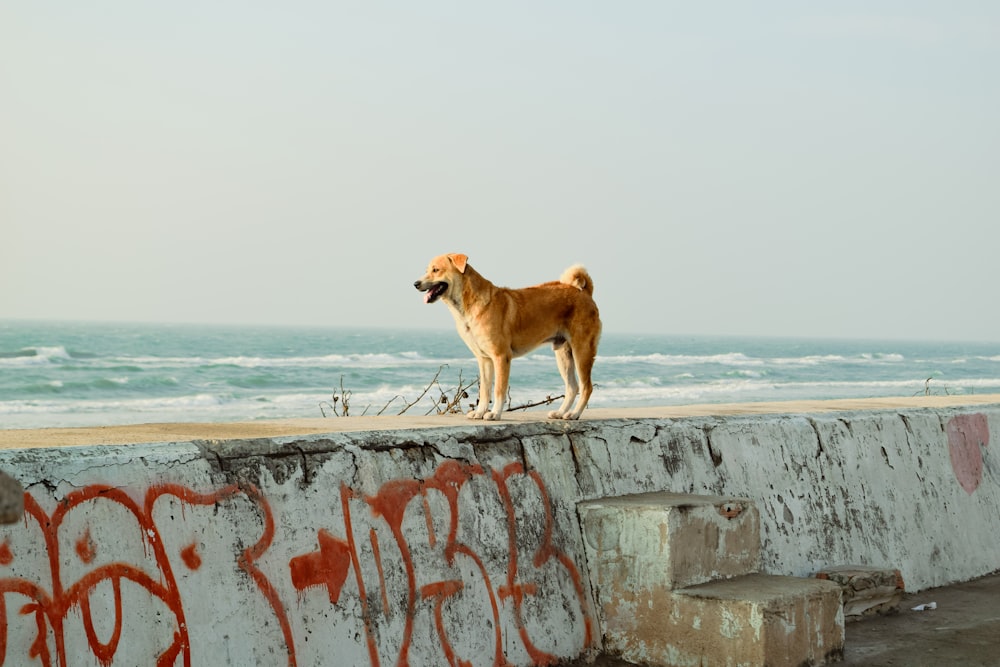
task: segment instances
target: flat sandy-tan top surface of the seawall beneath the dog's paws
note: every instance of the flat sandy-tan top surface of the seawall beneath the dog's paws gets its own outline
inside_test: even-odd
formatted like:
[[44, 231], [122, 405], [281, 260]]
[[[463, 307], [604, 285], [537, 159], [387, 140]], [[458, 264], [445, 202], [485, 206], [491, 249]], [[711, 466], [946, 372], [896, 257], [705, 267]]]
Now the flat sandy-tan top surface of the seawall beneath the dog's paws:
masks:
[[[913, 396], [902, 398], [787, 401], [781, 403], [729, 403], [682, 405], [658, 408], [598, 408], [587, 410], [584, 419], [671, 419], [750, 414], [802, 414], [840, 410], [893, 410], [899, 408], [947, 408], [1000, 404], [1000, 394], [969, 396]], [[506, 412], [505, 422], [544, 421], [544, 411]], [[45, 428], [0, 430], [0, 449], [62, 447], [74, 445], [122, 445], [138, 442], [187, 442], [190, 440], [235, 440], [310, 433], [345, 433], [424, 429], [483, 424], [462, 415], [411, 417], [330, 417], [326, 419], [279, 419], [221, 424], [131, 424], [90, 428]], [[490, 422], [485, 422], [490, 423]]]

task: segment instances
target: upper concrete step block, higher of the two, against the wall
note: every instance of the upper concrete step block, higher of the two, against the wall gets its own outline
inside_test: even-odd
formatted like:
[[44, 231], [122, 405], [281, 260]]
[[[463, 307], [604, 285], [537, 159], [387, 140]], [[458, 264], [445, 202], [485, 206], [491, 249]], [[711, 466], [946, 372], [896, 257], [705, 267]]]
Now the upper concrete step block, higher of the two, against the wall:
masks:
[[760, 567], [760, 515], [743, 498], [644, 493], [586, 501], [577, 511], [599, 597], [669, 591]]

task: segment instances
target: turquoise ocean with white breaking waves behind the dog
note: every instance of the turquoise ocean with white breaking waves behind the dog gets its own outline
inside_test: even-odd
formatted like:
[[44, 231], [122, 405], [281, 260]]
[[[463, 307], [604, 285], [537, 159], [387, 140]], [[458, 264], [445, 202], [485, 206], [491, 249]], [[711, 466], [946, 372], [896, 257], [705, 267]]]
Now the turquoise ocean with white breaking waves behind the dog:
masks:
[[[453, 329], [0, 321], [3, 429], [423, 415], [459, 386], [464, 411], [476, 376]], [[1000, 344], [605, 333], [594, 382], [590, 407], [998, 393]], [[550, 349], [514, 361], [512, 405], [561, 393]]]

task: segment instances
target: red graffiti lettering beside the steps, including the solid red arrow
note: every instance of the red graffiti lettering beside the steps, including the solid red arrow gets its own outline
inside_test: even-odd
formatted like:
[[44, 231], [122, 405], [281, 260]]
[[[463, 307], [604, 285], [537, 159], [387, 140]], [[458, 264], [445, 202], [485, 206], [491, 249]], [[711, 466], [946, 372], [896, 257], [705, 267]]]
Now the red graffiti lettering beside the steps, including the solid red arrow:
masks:
[[[555, 546], [553, 541], [554, 519], [548, 492], [541, 476], [535, 472], [526, 473], [521, 463], [510, 464], [502, 471], [489, 475], [480, 466], [447, 461], [441, 464], [434, 475], [427, 479], [393, 480], [385, 483], [377, 493], [371, 496], [361, 496], [346, 486], [341, 487], [345, 538], [337, 540], [331, 535], [325, 534], [326, 531], [321, 529], [319, 551], [295, 556], [291, 559], [289, 567], [296, 589], [303, 591], [312, 586], [327, 586], [328, 592], [331, 593], [330, 602], [336, 604], [341, 586], [347, 579], [348, 567], [353, 567], [371, 664], [373, 667], [383, 664], [380, 645], [377, 641], [380, 636], [377, 632], [377, 615], [370, 607], [361, 559], [354, 538], [356, 512], [352, 514], [351, 501], [360, 500], [370, 510], [371, 517], [369, 519], [381, 519], [384, 522], [383, 525], [392, 535], [395, 553], [399, 558], [398, 567], [405, 577], [405, 598], [401, 600], [403, 605], [402, 633], [395, 649], [394, 660], [389, 661], [391, 664], [395, 664], [396, 667], [408, 667], [411, 664], [410, 652], [414, 626], [423, 613], [429, 614], [432, 618], [433, 628], [438, 635], [444, 661], [454, 667], [472, 664], [471, 658], [473, 656], [468, 658], [460, 656], [455, 648], [453, 638], [463, 634], [463, 626], [468, 625], [468, 622], [473, 619], [459, 617], [459, 625], [456, 626], [455, 621], [451, 623], [447, 621], [445, 614], [449, 604], [459, 602], [466, 593], [473, 595], [467, 586], [467, 581], [458, 576], [456, 572], [454, 578], [418, 584], [424, 569], [430, 568], [435, 572], [438, 572], [441, 567], [446, 571], [454, 570], [458, 567], [459, 560], [466, 560], [472, 566], [471, 571], [475, 572], [478, 579], [477, 589], [483, 591], [486, 600], [488, 600], [489, 617], [484, 621], [492, 629], [490, 649], [493, 654], [493, 665], [502, 667], [508, 664], [504, 656], [503, 623], [500, 613], [503, 602], [508, 602], [511, 605], [518, 638], [532, 662], [536, 665], [555, 664], [560, 660], [560, 657], [536, 646], [531, 637], [529, 624], [524, 619], [523, 610], [528, 598], [540, 596], [542, 586], [537, 581], [525, 580], [525, 574], [520, 565], [519, 554], [525, 542], [521, 539], [522, 536], [518, 528], [517, 513], [521, 503], [515, 500], [515, 493], [510, 488], [511, 479], [514, 477], [527, 481], [539, 500], [539, 506], [533, 510], [536, 514], [533, 521], [542, 525], [540, 543], [529, 554], [528, 565], [533, 571], [547, 569], [550, 571], [549, 577], [554, 576], [551, 572], [553, 569], [564, 573], [571, 586], [572, 601], [579, 609], [579, 616], [584, 626], [583, 646], [580, 649], [589, 646], [593, 641], [591, 620], [587, 614], [586, 596], [579, 571], [573, 560]], [[484, 479], [492, 481], [497, 500], [506, 517], [504, 523], [506, 535], [502, 544], [497, 545], [506, 554], [506, 560], [502, 563], [505, 566], [502, 568], [505, 580], [499, 586], [492, 582], [487, 563], [477, 548], [459, 539], [462, 489], [471, 480]], [[447, 536], [443, 544], [436, 528], [438, 525], [436, 518], [438, 517], [435, 516], [432, 509], [431, 495], [434, 493], [441, 494], [438, 497], [443, 497], [447, 507], [447, 523], [445, 524]], [[476, 510], [473, 509], [473, 511]], [[408, 523], [406, 521], [408, 512], [423, 512], [423, 521], [420, 524]], [[539, 512], [540, 514], [538, 514]], [[419, 521], [419, 519], [417, 520]], [[408, 536], [407, 531], [414, 530], [421, 524], [425, 527], [425, 532], [420, 538], [421, 541], [414, 543], [414, 538]], [[417, 532], [419, 533], [419, 531]], [[387, 558], [391, 559], [392, 556], [386, 554], [386, 549], [381, 546], [375, 526], [369, 529], [369, 541], [372, 547], [373, 565], [377, 572], [377, 586], [381, 590], [381, 617], [388, 620], [392, 605], [389, 601], [385, 562]], [[324, 542], [328, 545], [325, 550]], [[330, 548], [334, 544], [337, 545], [336, 551]], [[421, 553], [419, 561], [414, 557], [413, 549], [416, 547], [419, 547]], [[432, 553], [439, 553], [442, 561], [436, 565], [433, 562], [427, 562], [428, 550]], [[466, 572], [468, 571], [466, 568]], [[331, 584], [336, 584], [336, 587], [331, 588]], [[336, 590], [336, 595], [333, 595], [334, 590]], [[551, 590], [545, 590], [545, 593], [552, 595]], [[555, 595], [552, 597], [558, 598]], [[560, 608], [564, 606], [564, 602], [562, 598], [558, 598]], [[384, 650], [385, 647], [382, 646], [381, 651], [384, 652]]]

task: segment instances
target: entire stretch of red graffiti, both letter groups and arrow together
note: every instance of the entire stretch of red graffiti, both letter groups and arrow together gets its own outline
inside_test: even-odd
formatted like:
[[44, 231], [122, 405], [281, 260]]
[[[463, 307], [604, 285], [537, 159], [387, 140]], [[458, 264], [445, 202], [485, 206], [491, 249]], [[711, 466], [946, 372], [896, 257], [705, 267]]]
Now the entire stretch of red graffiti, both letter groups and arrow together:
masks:
[[[205, 664], [222, 630], [200, 624], [215, 624], [222, 595], [246, 610], [239, 622], [260, 626], [229, 621], [244, 642], [268, 644], [255, 650], [270, 664], [315, 664], [347, 643], [355, 659], [338, 664], [500, 667], [515, 651], [548, 665], [593, 639], [545, 484], [520, 462], [448, 461], [371, 495], [341, 485], [312, 531], [276, 525], [246, 483], [130, 491], [90, 485], [50, 511], [41, 501], [52, 498], [25, 494], [24, 522], [0, 529], [0, 664]], [[228, 548], [209, 544], [212, 522], [239, 524], [226, 528]], [[557, 614], [580, 628], [574, 646], [540, 631]]]

